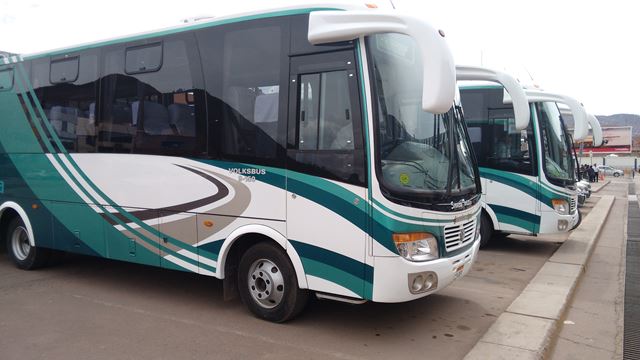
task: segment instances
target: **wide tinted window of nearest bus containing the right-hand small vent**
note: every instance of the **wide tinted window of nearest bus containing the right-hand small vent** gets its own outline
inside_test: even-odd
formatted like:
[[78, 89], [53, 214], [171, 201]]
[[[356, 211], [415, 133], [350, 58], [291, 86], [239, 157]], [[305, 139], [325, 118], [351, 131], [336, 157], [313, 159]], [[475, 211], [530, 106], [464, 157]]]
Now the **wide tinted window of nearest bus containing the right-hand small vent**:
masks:
[[[151, 61], [153, 54], [162, 53], [158, 44], [104, 50], [99, 151], [180, 156], [206, 152], [205, 100], [195, 40], [188, 34], [167, 37], [162, 42], [164, 57]], [[126, 71], [130, 61], [160, 70], [132, 75]]]

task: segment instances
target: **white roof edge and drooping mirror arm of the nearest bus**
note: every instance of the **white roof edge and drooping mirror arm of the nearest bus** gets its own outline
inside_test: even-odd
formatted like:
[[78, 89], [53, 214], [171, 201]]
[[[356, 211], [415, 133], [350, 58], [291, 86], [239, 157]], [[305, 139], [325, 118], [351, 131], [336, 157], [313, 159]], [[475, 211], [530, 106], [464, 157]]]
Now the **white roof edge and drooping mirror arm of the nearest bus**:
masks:
[[[386, 9], [385, 9], [386, 10]], [[202, 18], [178, 26], [136, 35], [101, 40], [62, 49], [3, 59], [4, 64], [55, 55], [68, 55], [81, 50], [144, 40], [189, 30], [229, 23], [296, 14], [311, 14], [308, 39], [313, 44], [356, 39], [378, 33], [401, 33], [413, 37], [423, 55], [422, 109], [432, 113], [447, 112], [456, 97], [455, 64], [444, 40], [444, 33], [413, 14], [377, 11], [377, 6], [353, 3], [303, 4], [277, 9], [261, 9], [218, 18]]]

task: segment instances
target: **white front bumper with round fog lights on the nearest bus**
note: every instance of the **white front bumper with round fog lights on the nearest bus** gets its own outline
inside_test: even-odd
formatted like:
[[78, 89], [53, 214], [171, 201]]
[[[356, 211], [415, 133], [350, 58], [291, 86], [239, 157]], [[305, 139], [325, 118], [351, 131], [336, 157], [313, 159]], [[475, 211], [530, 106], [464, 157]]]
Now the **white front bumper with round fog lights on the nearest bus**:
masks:
[[[376, 257], [373, 277], [373, 301], [396, 303], [419, 299], [436, 293], [466, 275], [478, 257], [480, 241], [476, 239], [464, 252], [449, 258], [411, 262], [402, 257]], [[415, 292], [414, 282], [422, 277], [433, 287]], [[435, 276], [435, 283], [433, 282]]]

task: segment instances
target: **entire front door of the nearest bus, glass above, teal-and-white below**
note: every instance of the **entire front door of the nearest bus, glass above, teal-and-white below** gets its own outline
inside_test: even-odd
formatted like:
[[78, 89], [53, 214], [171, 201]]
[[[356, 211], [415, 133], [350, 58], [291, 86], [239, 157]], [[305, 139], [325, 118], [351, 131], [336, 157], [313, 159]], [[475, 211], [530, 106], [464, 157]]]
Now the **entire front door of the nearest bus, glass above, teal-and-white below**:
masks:
[[291, 57], [287, 236], [311, 289], [363, 296], [367, 188], [353, 51]]

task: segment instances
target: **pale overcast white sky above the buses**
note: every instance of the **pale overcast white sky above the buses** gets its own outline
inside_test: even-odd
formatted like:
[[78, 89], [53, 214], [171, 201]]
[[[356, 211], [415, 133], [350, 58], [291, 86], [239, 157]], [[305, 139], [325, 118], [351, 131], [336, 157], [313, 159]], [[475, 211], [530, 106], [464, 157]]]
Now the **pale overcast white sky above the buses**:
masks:
[[[388, 0], [353, 1], [391, 7]], [[0, 0], [0, 50], [29, 54], [189, 17], [300, 2]], [[593, 114], [640, 114], [637, 0], [393, 0], [393, 6], [442, 29], [456, 64], [506, 71], [523, 84], [572, 96]]]

